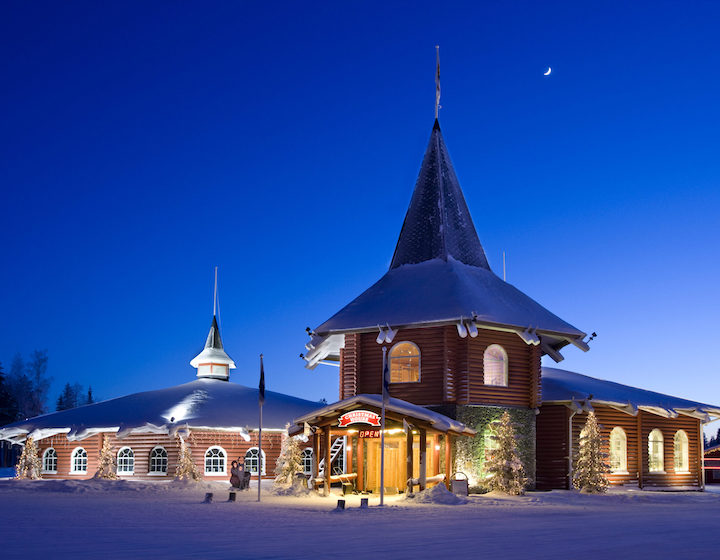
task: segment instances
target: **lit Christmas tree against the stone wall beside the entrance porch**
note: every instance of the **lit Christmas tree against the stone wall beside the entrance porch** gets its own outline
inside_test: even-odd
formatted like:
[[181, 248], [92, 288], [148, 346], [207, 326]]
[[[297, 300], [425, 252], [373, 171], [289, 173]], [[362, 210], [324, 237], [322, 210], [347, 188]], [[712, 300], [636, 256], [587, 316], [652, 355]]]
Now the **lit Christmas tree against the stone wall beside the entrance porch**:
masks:
[[485, 463], [485, 471], [488, 473], [487, 486], [490, 490], [499, 490], [506, 494], [523, 494], [528, 479], [518, 454], [517, 439], [510, 414], [507, 411], [503, 412], [500, 420], [493, 422], [493, 427], [497, 448]]

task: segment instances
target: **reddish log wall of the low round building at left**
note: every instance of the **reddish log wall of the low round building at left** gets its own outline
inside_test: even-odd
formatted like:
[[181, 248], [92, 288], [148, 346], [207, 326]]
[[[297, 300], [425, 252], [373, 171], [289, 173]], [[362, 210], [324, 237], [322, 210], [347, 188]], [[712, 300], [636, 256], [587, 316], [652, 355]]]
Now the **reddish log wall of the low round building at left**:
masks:
[[[135, 454], [135, 472], [132, 475], [120, 475], [121, 478], [158, 480], [170, 479], [175, 475], [179, 445], [177, 438], [170, 438], [160, 434], [133, 434], [118, 439], [115, 434], [108, 434], [113, 454], [117, 460], [117, 453], [122, 447], [129, 447]], [[274, 470], [280, 455], [283, 435], [280, 432], [263, 431], [263, 452], [265, 453], [265, 475], [263, 478], [274, 478]], [[244, 460], [245, 453], [251, 447], [258, 446], [257, 432], [250, 434], [250, 441], [245, 441], [239, 434], [229, 432], [193, 431], [185, 439], [192, 453], [193, 461], [206, 480], [229, 480], [230, 463], [238, 457]], [[309, 444], [308, 444], [309, 445]], [[151, 474], [150, 452], [156, 446], [162, 446], [168, 453], [168, 470], [166, 476]], [[205, 475], [205, 452], [213, 446], [222, 447], [226, 453], [226, 475]], [[92, 478], [98, 468], [102, 435], [96, 435], [82, 441], [68, 441], [64, 435], [57, 435], [38, 442], [40, 457], [49, 447], [53, 447], [58, 456], [57, 474], [43, 473], [43, 478], [88, 479]], [[88, 454], [88, 470], [86, 474], [70, 474], [72, 452], [82, 447]], [[303, 446], [303, 449], [306, 446]]]

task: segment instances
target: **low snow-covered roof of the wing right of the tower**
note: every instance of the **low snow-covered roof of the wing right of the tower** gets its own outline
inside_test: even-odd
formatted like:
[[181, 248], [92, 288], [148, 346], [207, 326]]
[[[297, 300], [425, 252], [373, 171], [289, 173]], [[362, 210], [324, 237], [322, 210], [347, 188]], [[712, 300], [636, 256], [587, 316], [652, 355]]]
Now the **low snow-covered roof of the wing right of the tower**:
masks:
[[646, 391], [563, 369], [544, 367], [541, 379], [543, 404], [563, 403], [586, 410], [598, 404], [633, 415], [638, 410], [644, 410], [666, 418], [684, 414], [706, 422], [713, 417], [720, 418], [720, 406]]

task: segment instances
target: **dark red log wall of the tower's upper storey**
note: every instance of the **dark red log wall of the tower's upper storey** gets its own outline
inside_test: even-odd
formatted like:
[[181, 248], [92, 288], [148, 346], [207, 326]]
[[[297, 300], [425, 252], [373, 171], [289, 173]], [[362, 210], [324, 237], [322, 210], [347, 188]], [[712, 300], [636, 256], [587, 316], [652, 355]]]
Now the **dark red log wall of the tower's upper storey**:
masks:
[[[476, 338], [460, 338], [453, 325], [401, 329], [394, 344], [420, 349], [420, 381], [393, 383], [390, 394], [420, 405], [486, 404], [536, 408], [540, 403], [540, 356], [514, 333], [480, 329]], [[484, 384], [483, 354], [500, 344], [508, 354], [508, 386]], [[382, 348], [375, 333], [345, 335], [340, 364], [340, 398], [382, 392]]]

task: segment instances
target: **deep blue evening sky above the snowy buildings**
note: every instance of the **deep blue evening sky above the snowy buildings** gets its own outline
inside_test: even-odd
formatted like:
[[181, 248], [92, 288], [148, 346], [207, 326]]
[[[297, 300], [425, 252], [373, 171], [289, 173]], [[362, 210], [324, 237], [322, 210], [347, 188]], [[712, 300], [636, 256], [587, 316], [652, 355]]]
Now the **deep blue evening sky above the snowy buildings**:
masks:
[[720, 404], [720, 4], [0, 10], [0, 360], [47, 348], [52, 404], [192, 380], [215, 265], [233, 380], [335, 400], [305, 327], [390, 262], [436, 44], [491, 265], [598, 333], [560, 367]]

